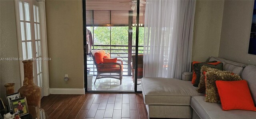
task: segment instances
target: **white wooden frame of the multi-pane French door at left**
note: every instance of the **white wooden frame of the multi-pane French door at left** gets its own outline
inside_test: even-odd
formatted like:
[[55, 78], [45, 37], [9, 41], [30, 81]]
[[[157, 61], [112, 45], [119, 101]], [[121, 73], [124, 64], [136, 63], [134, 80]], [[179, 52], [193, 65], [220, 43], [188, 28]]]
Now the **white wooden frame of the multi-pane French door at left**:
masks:
[[[19, 58], [23, 58], [21, 28], [20, 28], [19, 1], [22, 1], [22, 2], [31, 2], [31, 1], [30, 0], [14, 0], [15, 16], [16, 16], [16, 31], [17, 31], [17, 36], [18, 36], [17, 37], [18, 55], [19, 55]], [[34, 0], [34, 1], [36, 1], [36, 0]], [[39, 3], [39, 12], [40, 12], [40, 33], [41, 33], [42, 58], [48, 58], [47, 37], [46, 37], [47, 34], [46, 34], [45, 0], [40, 0], [40, 1], [36, 1], [36, 2]], [[30, 17], [31, 17], [31, 14], [33, 14], [33, 13], [30, 13]], [[32, 27], [32, 25], [31, 25], [31, 27]], [[34, 35], [34, 34], [32, 34], [32, 35]], [[32, 48], [34, 48], [34, 47], [32, 46]], [[22, 87], [23, 81], [24, 81], [24, 68], [23, 68], [22, 60], [19, 60], [19, 65], [20, 65], [20, 86]], [[35, 69], [33, 69], [33, 71], [34, 70]], [[43, 71], [43, 75], [42, 75], [43, 91], [41, 93], [41, 98], [43, 96], [50, 95], [48, 61], [46, 61], [46, 60], [42, 60], [42, 71]], [[36, 76], [36, 78], [37, 78], [37, 76]]]

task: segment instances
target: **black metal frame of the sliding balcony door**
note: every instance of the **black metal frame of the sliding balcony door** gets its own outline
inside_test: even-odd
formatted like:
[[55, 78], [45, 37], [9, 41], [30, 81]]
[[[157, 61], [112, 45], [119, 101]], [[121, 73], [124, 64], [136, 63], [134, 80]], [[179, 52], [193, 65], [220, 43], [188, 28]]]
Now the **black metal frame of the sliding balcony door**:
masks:
[[[86, 45], [86, 0], [82, 0], [82, 12], [83, 12], [83, 49], [84, 49], [84, 90], [85, 92], [93, 93], [142, 93], [142, 91], [137, 91], [137, 80], [138, 80], [138, 42], [139, 42], [139, 26], [136, 26], [136, 46], [135, 46], [135, 81], [134, 81], [134, 91], [88, 91], [87, 89], [87, 45]], [[136, 23], [139, 24], [139, 14], [140, 14], [140, 0], [137, 0], [137, 16]]]

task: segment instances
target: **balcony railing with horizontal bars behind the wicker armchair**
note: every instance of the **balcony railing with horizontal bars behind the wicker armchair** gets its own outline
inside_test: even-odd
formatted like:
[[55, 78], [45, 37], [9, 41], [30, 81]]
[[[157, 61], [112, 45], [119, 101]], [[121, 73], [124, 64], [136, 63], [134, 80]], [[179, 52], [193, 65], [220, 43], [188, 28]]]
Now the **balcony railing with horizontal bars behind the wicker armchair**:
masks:
[[[105, 52], [110, 53], [111, 58], [118, 58], [123, 60], [123, 75], [131, 75], [128, 73], [128, 69], [131, 66], [130, 61], [131, 55], [128, 55], [128, 45], [94, 45], [92, 46], [92, 50], [105, 50]], [[143, 54], [143, 47], [138, 46], [138, 54]], [[135, 55], [135, 46], [132, 46], [132, 55]], [[130, 57], [130, 58], [128, 58]], [[90, 68], [90, 74], [97, 75], [97, 69], [94, 65], [94, 61], [92, 57], [87, 56], [87, 68]]]

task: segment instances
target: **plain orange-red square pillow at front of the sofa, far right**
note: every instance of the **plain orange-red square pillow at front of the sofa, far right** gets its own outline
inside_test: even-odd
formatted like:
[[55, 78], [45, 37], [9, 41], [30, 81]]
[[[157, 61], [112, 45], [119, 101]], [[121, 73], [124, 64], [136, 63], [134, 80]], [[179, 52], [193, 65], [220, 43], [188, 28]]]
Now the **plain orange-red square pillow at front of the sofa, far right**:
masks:
[[216, 81], [222, 110], [250, 110], [256, 111], [250, 89], [245, 80]]

